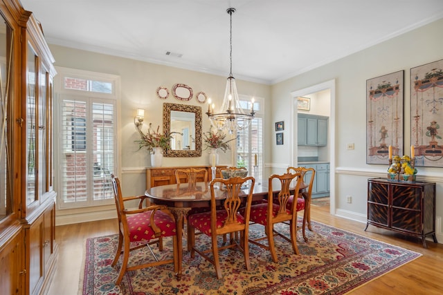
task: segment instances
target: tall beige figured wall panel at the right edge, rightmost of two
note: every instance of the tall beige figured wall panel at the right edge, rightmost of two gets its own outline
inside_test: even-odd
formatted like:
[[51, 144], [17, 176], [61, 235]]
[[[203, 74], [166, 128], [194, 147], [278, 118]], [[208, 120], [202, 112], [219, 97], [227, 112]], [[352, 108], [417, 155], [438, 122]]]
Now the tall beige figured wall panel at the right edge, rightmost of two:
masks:
[[410, 144], [415, 166], [443, 167], [442, 97], [443, 59], [410, 69]]

